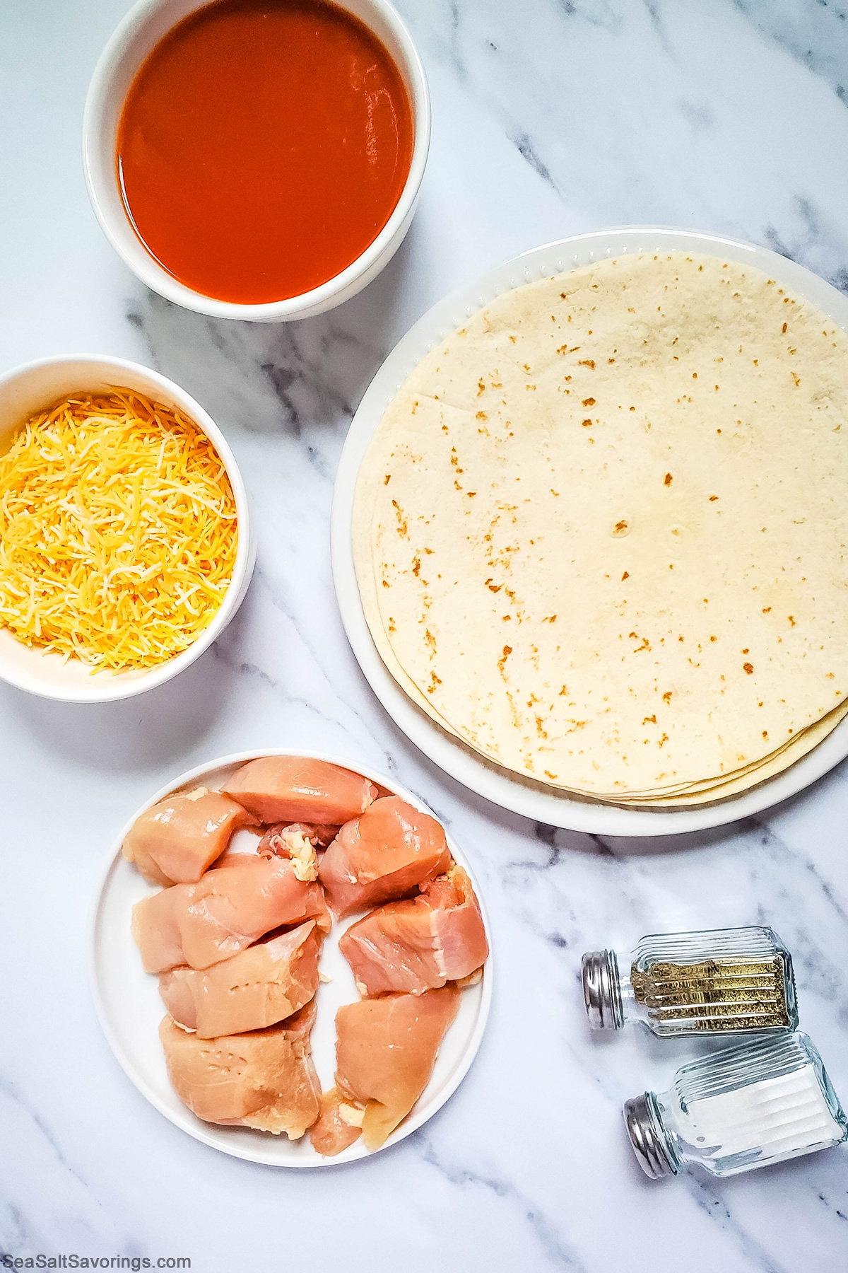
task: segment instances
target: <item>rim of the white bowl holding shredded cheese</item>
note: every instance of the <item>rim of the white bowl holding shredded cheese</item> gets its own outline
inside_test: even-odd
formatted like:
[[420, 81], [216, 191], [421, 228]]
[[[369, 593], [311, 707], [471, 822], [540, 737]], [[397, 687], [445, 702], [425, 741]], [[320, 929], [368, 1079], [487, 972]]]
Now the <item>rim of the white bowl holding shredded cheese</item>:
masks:
[[[112, 677], [98, 677], [97, 673], [94, 673], [88, 681], [67, 682], [61, 685], [55, 682], [47, 684], [46, 681], [41, 681], [34, 675], [31, 676], [27, 672], [20, 672], [18, 668], [10, 670], [0, 659], [0, 680], [6, 681], [9, 685], [14, 685], [19, 690], [27, 690], [29, 694], [37, 694], [41, 698], [55, 699], [64, 703], [112, 703], [120, 699], [133, 698], [136, 694], [144, 694], [147, 690], [153, 690], [156, 686], [163, 685], [165, 681], [169, 681], [173, 676], [177, 676], [186, 667], [198, 659], [201, 654], [209, 649], [212, 642], [220, 636], [221, 631], [226, 628], [244, 600], [244, 594], [250, 582], [256, 563], [256, 536], [250, 518], [247, 488], [226, 438], [200, 402], [197, 402], [196, 398], [193, 398], [186, 390], [181, 388], [179, 384], [169, 379], [167, 376], [163, 376], [160, 372], [155, 372], [150, 367], [144, 367], [141, 363], [133, 363], [125, 358], [113, 358], [108, 354], [58, 354], [48, 358], [33, 359], [31, 363], [23, 363], [20, 367], [14, 367], [11, 370], [0, 374], [0, 396], [15, 381], [39, 370], [42, 367], [61, 367], [62, 364], [70, 365], [80, 363], [88, 364], [92, 368], [113, 368], [116, 372], [116, 388], [131, 388], [130, 384], [123, 383], [120, 378], [121, 373], [127, 373], [131, 377], [147, 381], [154, 390], [161, 391], [161, 401], [167, 405], [177, 406], [191, 419], [193, 424], [197, 425], [198, 429], [201, 429], [202, 433], [206, 434], [217, 451], [230, 480], [230, 486], [233, 488], [239, 536], [238, 547], [235, 550], [235, 563], [233, 565], [233, 578], [230, 579], [230, 584], [224, 593], [224, 598], [217, 611], [203, 631], [200, 633], [200, 635], [192, 642], [188, 649], [184, 649], [181, 654], [174, 656], [174, 658], [168, 659], [168, 662], [159, 663], [150, 670], [132, 675], [123, 676], [118, 673]], [[74, 390], [85, 388], [85, 384], [69, 383], [67, 391], [72, 392]], [[140, 390], [137, 392], [146, 391]], [[44, 406], [50, 404], [44, 404]], [[34, 407], [34, 410], [38, 410], [38, 407]], [[32, 412], [28, 411], [27, 414]], [[23, 419], [25, 419], [25, 416]], [[37, 653], [38, 651], [33, 648], [33, 654], [37, 656]]]

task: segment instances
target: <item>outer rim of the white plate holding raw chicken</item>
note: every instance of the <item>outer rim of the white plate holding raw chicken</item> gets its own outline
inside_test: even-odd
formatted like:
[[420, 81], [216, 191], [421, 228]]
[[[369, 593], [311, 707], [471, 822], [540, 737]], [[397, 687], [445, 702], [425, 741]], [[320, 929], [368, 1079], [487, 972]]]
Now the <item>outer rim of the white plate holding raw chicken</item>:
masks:
[[[439, 1094], [437, 1104], [435, 1104], [432, 1109], [427, 1111], [420, 1110], [417, 1114], [414, 1113], [413, 1108], [411, 1115], [407, 1115], [407, 1118], [400, 1123], [397, 1130], [393, 1132], [392, 1136], [384, 1142], [384, 1144], [379, 1146], [379, 1148], [376, 1150], [365, 1150], [365, 1147], [361, 1144], [361, 1141], [356, 1141], [352, 1146], [350, 1146], [348, 1150], [342, 1151], [342, 1153], [332, 1158], [317, 1158], [305, 1162], [280, 1162], [275, 1158], [270, 1158], [267, 1155], [262, 1152], [261, 1146], [263, 1143], [270, 1143], [266, 1139], [266, 1134], [262, 1132], [256, 1132], [257, 1137], [256, 1151], [252, 1151], [249, 1147], [243, 1147], [243, 1146], [234, 1144], [233, 1148], [228, 1148], [220, 1144], [215, 1139], [212, 1133], [205, 1130], [206, 1124], [201, 1119], [197, 1119], [196, 1115], [193, 1115], [192, 1111], [188, 1109], [188, 1106], [181, 1106], [181, 1111], [184, 1109], [184, 1115], [181, 1118], [178, 1116], [179, 1111], [175, 1113], [174, 1110], [169, 1109], [159, 1099], [155, 1090], [136, 1069], [132, 1058], [126, 1054], [125, 1049], [118, 1041], [118, 1037], [111, 1025], [111, 1018], [107, 1012], [104, 997], [100, 992], [100, 981], [98, 973], [99, 924], [106, 905], [106, 895], [113, 872], [122, 861], [121, 850], [123, 840], [126, 839], [132, 824], [136, 821], [137, 817], [141, 816], [141, 813], [149, 810], [153, 805], [156, 805], [160, 799], [164, 799], [167, 796], [172, 794], [172, 792], [178, 791], [187, 783], [196, 782], [198, 778], [202, 778], [205, 774], [209, 774], [210, 771], [214, 771], [216, 769], [224, 769], [228, 765], [244, 764], [248, 760], [258, 760], [263, 756], [297, 756], [305, 760], [322, 760], [327, 761], [331, 765], [338, 765], [341, 769], [348, 769], [351, 773], [360, 774], [362, 778], [369, 778], [373, 783], [379, 783], [380, 787], [390, 789], [394, 794], [400, 796], [403, 799], [408, 801], [413, 807], [418, 808], [421, 812], [428, 813], [431, 817], [435, 817], [439, 825], [442, 826], [442, 830], [445, 831], [448, 848], [450, 849], [454, 861], [460, 867], [463, 867], [463, 869], [468, 873], [468, 877], [470, 878], [472, 882], [472, 887], [479, 903], [481, 914], [483, 917], [483, 928], [486, 931], [489, 953], [483, 966], [483, 976], [481, 983], [482, 984], [481, 1002], [477, 1013], [477, 1021], [474, 1022], [474, 1029], [472, 1030], [469, 1041], [465, 1046], [465, 1051], [460, 1062], [458, 1063], [455, 1071], [453, 1072], [448, 1082], [444, 1085], [441, 1092]], [[398, 783], [394, 778], [389, 778], [388, 775], [380, 773], [378, 769], [374, 769], [370, 765], [359, 765], [359, 763], [356, 765], [352, 765], [348, 760], [345, 760], [331, 752], [301, 750], [292, 747], [249, 749], [247, 751], [230, 752], [215, 760], [206, 761], [205, 764], [195, 765], [192, 766], [192, 769], [188, 769], [184, 773], [182, 773], [178, 778], [172, 779], [170, 782], [160, 787], [159, 791], [156, 791], [156, 793], [150, 799], [145, 801], [142, 805], [139, 806], [132, 817], [127, 819], [127, 821], [121, 827], [120, 834], [112, 841], [108, 857], [106, 859], [106, 864], [99, 872], [98, 881], [99, 882], [97, 894], [90, 906], [88, 918], [86, 967], [88, 967], [88, 979], [89, 979], [92, 998], [94, 1001], [94, 1011], [100, 1030], [106, 1036], [106, 1040], [109, 1045], [109, 1049], [112, 1050], [113, 1057], [121, 1066], [121, 1069], [125, 1072], [125, 1074], [133, 1085], [133, 1087], [145, 1097], [145, 1100], [150, 1105], [153, 1105], [155, 1110], [163, 1114], [169, 1123], [172, 1123], [175, 1128], [178, 1128], [178, 1130], [184, 1132], [187, 1136], [193, 1137], [193, 1139], [200, 1141], [202, 1144], [207, 1144], [210, 1148], [216, 1150], [219, 1153], [225, 1153], [230, 1157], [242, 1158], [248, 1162], [259, 1162], [263, 1166], [278, 1167], [285, 1171], [304, 1171], [304, 1170], [313, 1171], [313, 1170], [319, 1170], [322, 1167], [341, 1167], [345, 1166], [346, 1164], [367, 1161], [373, 1158], [375, 1155], [381, 1153], [384, 1150], [390, 1150], [395, 1144], [399, 1144], [408, 1136], [412, 1136], [413, 1132], [417, 1132], [420, 1127], [423, 1127], [425, 1123], [427, 1123], [431, 1118], [434, 1118], [454, 1095], [456, 1088], [460, 1086], [460, 1083], [468, 1074], [468, 1071], [470, 1069], [472, 1064], [474, 1063], [477, 1053], [479, 1051], [481, 1043], [483, 1040], [483, 1035], [486, 1032], [486, 1026], [488, 1023], [488, 1016], [492, 1003], [492, 967], [493, 967], [492, 929], [488, 918], [488, 911], [486, 908], [486, 901], [481, 894], [479, 882], [477, 880], [472, 864], [468, 861], [468, 857], [465, 855], [465, 853], [463, 853], [462, 849], [459, 850], [459, 853], [456, 852], [456, 845], [454, 843], [453, 836], [449, 834], [448, 827], [444, 826], [444, 824], [437, 817], [435, 811], [423, 799], [421, 799], [420, 796], [416, 796], [413, 792], [408, 791], [408, 788], [406, 788], [402, 783]], [[195, 1123], [197, 1123], [197, 1127], [195, 1127], [191, 1123], [192, 1119], [195, 1120]], [[219, 1127], [219, 1124], [210, 1124], [210, 1127], [215, 1127], [219, 1132], [226, 1130], [226, 1128], [221, 1128]], [[253, 1129], [239, 1128], [239, 1132], [244, 1130], [253, 1130]], [[275, 1141], [276, 1139], [277, 1138], [275, 1137]]]

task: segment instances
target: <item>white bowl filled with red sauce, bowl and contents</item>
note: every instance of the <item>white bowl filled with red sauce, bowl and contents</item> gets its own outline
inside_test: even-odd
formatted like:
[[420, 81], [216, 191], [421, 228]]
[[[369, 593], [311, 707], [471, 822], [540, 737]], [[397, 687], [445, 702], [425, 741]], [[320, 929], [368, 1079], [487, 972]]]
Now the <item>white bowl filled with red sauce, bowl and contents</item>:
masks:
[[85, 102], [97, 218], [160, 295], [291, 320], [360, 292], [407, 233], [427, 81], [386, 0], [140, 0]]

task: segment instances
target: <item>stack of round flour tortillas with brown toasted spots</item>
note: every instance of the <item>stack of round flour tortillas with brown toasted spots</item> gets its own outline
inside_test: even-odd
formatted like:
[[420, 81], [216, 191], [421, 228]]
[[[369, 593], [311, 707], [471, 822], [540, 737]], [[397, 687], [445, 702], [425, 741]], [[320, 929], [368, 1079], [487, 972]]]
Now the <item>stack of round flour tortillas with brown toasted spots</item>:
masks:
[[353, 512], [398, 684], [524, 778], [674, 807], [848, 710], [848, 336], [750, 266], [498, 297], [388, 407]]

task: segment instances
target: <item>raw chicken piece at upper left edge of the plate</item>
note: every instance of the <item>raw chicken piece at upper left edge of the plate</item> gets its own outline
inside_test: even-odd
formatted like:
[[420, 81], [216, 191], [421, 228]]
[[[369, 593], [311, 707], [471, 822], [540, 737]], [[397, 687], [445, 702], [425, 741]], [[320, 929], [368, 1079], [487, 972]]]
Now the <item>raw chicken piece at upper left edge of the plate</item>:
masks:
[[198, 787], [146, 810], [123, 841], [123, 855], [150, 883], [192, 883], [224, 853], [233, 831], [256, 822], [220, 792]]

